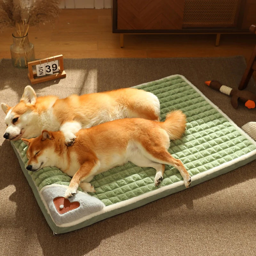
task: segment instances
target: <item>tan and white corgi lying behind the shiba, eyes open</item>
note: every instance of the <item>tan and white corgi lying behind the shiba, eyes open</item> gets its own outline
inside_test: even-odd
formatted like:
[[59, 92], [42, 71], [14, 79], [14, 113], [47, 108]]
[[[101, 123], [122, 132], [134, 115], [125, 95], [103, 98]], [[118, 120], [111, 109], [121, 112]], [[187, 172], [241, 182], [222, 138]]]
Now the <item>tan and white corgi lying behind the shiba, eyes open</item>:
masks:
[[59, 99], [57, 96], [36, 97], [28, 85], [16, 106], [2, 103], [1, 107], [6, 114], [5, 139], [28, 139], [39, 136], [43, 130], [60, 130], [67, 146], [73, 144], [75, 133], [81, 128], [127, 117], [159, 120], [160, 114], [158, 98], [151, 92], [134, 88]]

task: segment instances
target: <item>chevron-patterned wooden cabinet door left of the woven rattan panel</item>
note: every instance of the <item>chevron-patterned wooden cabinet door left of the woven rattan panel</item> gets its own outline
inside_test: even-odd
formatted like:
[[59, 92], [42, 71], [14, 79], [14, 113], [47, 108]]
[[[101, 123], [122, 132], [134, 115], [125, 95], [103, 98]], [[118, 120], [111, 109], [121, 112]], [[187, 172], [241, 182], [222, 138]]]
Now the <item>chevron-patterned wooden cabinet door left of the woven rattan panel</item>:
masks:
[[117, 29], [181, 29], [185, 0], [117, 0]]

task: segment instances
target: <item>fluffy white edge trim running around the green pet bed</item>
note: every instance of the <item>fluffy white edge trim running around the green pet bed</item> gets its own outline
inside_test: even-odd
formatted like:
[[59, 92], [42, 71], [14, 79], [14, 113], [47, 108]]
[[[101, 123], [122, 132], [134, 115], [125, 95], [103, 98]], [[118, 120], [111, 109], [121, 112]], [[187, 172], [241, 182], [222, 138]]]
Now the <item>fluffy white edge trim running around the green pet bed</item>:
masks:
[[[239, 132], [241, 132], [241, 134], [243, 134], [248, 140], [250, 140], [250, 141], [256, 146], [256, 141], [254, 141], [247, 133], [245, 133], [240, 127], [238, 127], [225, 113], [222, 112], [222, 110], [221, 110], [220, 108], [218, 108], [214, 103], [212, 103], [211, 100], [209, 100], [206, 96], [204, 96], [204, 94], [203, 94], [200, 90], [198, 90], [194, 84], [192, 84], [191, 82], [189, 82], [188, 79], [187, 79], [185, 76], [176, 74], [176, 75], [172, 75], [172, 76], [163, 77], [163, 78], [158, 79], [158, 80], [162, 80], [162, 79], [165, 79], [165, 78], [171, 78], [171, 77], [173, 77], [173, 76], [180, 76], [186, 83], [188, 83], [192, 88], [194, 88], [194, 89], [196, 90], [196, 92], [198, 92], [209, 104], [211, 104], [214, 108], [218, 109], [218, 111], [219, 111], [225, 118], [227, 118], [228, 121], [229, 121], [234, 127], [236, 127], [236, 129], [237, 129]], [[154, 80], [154, 81], [158, 81], [158, 80]], [[153, 81], [151, 81], [151, 82], [153, 82]], [[148, 84], [148, 83], [150, 83], [150, 82], [147, 82], [147, 83], [144, 83], [144, 84]], [[133, 88], [136, 88], [137, 86], [144, 85], [144, 84], [139, 84], [139, 85], [133, 86]], [[210, 170], [208, 170], [208, 171], [198, 173], [198, 174], [196, 174], [196, 175], [194, 175], [194, 176], [191, 177], [191, 180], [192, 180], [191, 184], [192, 184], [192, 186], [193, 186], [193, 181], [198, 180], [198, 179], [200, 179], [200, 178], [203, 178], [203, 177], [205, 177], [205, 176], [207, 176], [207, 175], [209, 175], [209, 174], [211, 174], [211, 173], [213, 173], [213, 172], [219, 171], [220, 169], [224, 169], [225, 167], [228, 167], [228, 166], [230, 166], [230, 165], [232, 165], [232, 164], [235, 164], [235, 163], [237, 163], [237, 162], [240, 162], [240, 161], [242, 161], [242, 160], [244, 160], [244, 159], [247, 159], [247, 158], [249, 158], [250, 156], [253, 156], [253, 155], [255, 155], [255, 154], [256, 154], [256, 149], [253, 150], [253, 151], [251, 151], [251, 152], [249, 152], [249, 153], [247, 153], [247, 154], [245, 154], [245, 155], [243, 155], [243, 156], [239, 156], [239, 157], [237, 157], [236, 159], [231, 160], [231, 161], [229, 161], [229, 162], [227, 162], [227, 163], [220, 164], [219, 166], [216, 166], [216, 167], [214, 167], [214, 168], [212, 168], [212, 169], [210, 169]], [[63, 227], [63, 228], [64, 228], [64, 227], [74, 226], [74, 225], [76, 225], [76, 224], [79, 224], [79, 223], [81, 223], [81, 222], [83, 222], [83, 221], [85, 221], [85, 220], [89, 220], [89, 219], [91, 219], [91, 218], [93, 218], [93, 217], [95, 217], [95, 216], [97, 216], [97, 215], [102, 214], [102, 213], [110, 212], [110, 211], [113, 211], [113, 210], [115, 210], [115, 209], [124, 207], [124, 206], [126, 206], [126, 205], [129, 205], [129, 204], [132, 204], [132, 203], [136, 203], [136, 202], [138, 202], [138, 201], [140, 201], [140, 200], [143, 200], [144, 198], [147, 198], [147, 197], [149, 197], [149, 196], [154, 196], [154, 195], [158, 194], [159, 192], [163, 192], [163, 191], [168, 190], [168, 189], [173, 189], [173, 188], [179, 187], [179, 186], [181, 186], [181, 185], [184, 186], [183, 180], [180, 180], [180, 181], [178, 181], [178, 182], [175, 182], [175, 183], [173, 183], [173, 184], [170, 184], [170, 185], [167, 185], [167, 186], [164, 186], [164, 187], [160, 187], [160, 188], [158, 188], [158, 189], [156, 189], [156, 190], [153, 190], [153, 191], [149, 191], [149, 192], [147, 192], [147, 193], [145, 193], [145, 194], [142, 194], [142, 195], [140, 195], [140, 196], [136, 196], [136, 197], [127, 199], [127, 200], [125, 200], [125, 201], [122, 201], [122, 202], [119, 202], [119, 203], [116, 203], [116, 204], [108, 205], [108, 206], [104, 207], [102, 210], [100, 210], [100, 211], [98, 211], [98, 212], [94, 212], [94, 213], [92, 213], [92, 214], [90, 214], [90, 215], [84, 216], [84, 217], [81, 218], [81, 219], [78, 219], [78, 220], [75, 220], [75, 221], [72, 221], [72, 222], [69, 222], [69, 223], [61, 224], [61, 225], [56, 225], [56, 226], [58, 226], [58, 227]], [[50, 187], [50, 186], [54, 186], [54, 184], [45, 186], [44, 188], [47, 188], [47, 187]], [[56, 184], [55, 184], [55, 187], [56, 187], [56, 186], [68, 187], [68, 186], [64, 186], [64, 185], [56, 185]], [[41, 191], [43, 191], [44, 188], [42, 188]], [[78, 191], [78, 190], [77, 190], [77, 191]], [[83, 192], [81, 192], [81, 191], [78, 191], [78, 192], [83, 193]], [[40, 197], [42, 198], [41, 193], [40, 193]], [[43, 199], [43, 198], [42, 198], [42, 201], [44, 202], [44, 199]], [[46, 205], [45, 202], [44, 202], [44, 205], [46, 206], [46, 209], [47, 209], [47, 211], [48, 211], [48, 213], [49, 213], [48, 206]], [[51, 216], [51, 214], [50, 214], [50, 216]], [[52, 218], [52, 216], [51, 216], [51, 218]], [[53, 220], [53, 222], [54, 222], [54, 220]], [[54, 222], [54, 223], [55, 223], [55, 222]]]

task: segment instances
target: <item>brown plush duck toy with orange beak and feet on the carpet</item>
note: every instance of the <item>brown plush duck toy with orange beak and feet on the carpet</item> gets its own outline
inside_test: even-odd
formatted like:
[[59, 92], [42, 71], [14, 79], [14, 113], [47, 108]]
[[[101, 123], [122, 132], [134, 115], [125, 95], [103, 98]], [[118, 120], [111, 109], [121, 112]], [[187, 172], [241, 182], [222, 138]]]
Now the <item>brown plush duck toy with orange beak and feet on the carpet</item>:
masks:
[[233, 108], [237, 108], [238, 99], [245, 102], [245, 107], [255, 108], [256, 95], [252, 92], [235, 90], [226, 85], [222, 85], [220, 82], [215, 80], [206, 81], [204, 83], [216, 91], [220, 91], [224, 94], [230, 95], [231, 105], [233, 106]]

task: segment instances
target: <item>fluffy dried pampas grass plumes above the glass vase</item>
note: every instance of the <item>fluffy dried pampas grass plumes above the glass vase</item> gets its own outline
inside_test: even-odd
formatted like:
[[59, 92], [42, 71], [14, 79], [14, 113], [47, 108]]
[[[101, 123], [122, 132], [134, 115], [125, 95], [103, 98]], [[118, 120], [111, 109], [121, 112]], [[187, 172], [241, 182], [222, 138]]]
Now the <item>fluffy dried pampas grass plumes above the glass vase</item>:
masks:
[[15, 28], [14, 36], [26, 36], [29, 26], [49, 22], [59, 15], [60, 0], [0, 0], [0, 31]]

